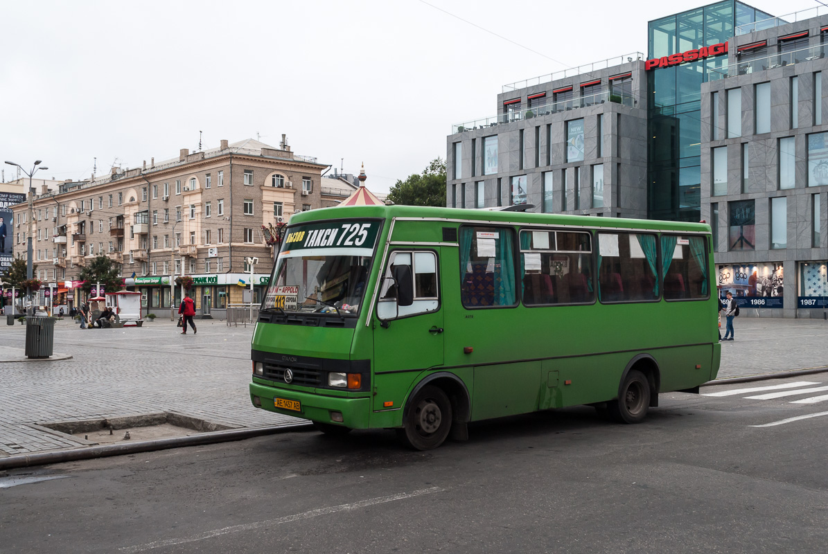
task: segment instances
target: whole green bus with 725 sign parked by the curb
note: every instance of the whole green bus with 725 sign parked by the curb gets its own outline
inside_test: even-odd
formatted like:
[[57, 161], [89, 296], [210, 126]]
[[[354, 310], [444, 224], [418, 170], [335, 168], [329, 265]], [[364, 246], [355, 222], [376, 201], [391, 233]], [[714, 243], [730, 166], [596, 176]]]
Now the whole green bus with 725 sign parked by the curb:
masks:
[[255, 407], [427, 450], [580, 404], [641, 422], [719, 370], [710, 226], [508, 210], [295, 214], [253, 332]]

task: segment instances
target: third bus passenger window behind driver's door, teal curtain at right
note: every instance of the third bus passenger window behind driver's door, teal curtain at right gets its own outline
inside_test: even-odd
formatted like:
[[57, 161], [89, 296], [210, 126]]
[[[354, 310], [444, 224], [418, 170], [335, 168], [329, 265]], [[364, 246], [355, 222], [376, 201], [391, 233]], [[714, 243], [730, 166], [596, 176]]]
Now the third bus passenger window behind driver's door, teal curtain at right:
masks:
[[658, 299], [656, 237], [598, 234], [598, 297], [601, 302]]

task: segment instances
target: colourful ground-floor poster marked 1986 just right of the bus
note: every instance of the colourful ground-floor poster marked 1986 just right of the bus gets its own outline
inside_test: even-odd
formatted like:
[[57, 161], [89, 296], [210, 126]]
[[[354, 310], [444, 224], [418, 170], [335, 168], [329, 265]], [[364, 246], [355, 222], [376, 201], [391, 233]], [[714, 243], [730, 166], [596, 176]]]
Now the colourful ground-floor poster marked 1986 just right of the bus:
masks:
[[782, 308], [782, 263], [716, 266], [719, 296], [733, 294], [742, 308]]

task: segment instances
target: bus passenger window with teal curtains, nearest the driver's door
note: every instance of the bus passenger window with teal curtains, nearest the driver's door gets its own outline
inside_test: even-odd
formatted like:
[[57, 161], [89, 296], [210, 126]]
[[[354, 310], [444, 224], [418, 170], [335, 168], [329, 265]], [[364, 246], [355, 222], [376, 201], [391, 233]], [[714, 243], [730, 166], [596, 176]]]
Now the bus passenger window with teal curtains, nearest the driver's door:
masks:
[[461, 227], [460, 275], [460, 300], [463, 306], [514, 306], [517, 291], [513, 230]]

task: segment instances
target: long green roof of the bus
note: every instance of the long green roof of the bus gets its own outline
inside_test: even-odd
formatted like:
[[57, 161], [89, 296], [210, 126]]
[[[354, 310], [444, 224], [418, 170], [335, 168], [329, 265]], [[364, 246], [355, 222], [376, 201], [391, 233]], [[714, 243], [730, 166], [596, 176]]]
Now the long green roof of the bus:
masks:
[[583, 225], [585, 227], [606, 227], [608, 229], [647, 229], [710, 232], [709, 224], [684, 221], [662, 221], [659, 219], [625, 219], [590, 217], [568, 214], [536, 214], [533, 212], [474, 210], [460, 208], [437, 208], [431, 206], [379, 205], [342, 206], [322, 208], [293, 214], [290, 224], [308, 223], [322, 219], [351, 218], [436, 218], [452, 221], [480, 221], [509, 224]]

